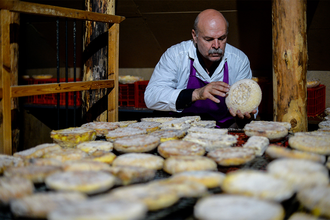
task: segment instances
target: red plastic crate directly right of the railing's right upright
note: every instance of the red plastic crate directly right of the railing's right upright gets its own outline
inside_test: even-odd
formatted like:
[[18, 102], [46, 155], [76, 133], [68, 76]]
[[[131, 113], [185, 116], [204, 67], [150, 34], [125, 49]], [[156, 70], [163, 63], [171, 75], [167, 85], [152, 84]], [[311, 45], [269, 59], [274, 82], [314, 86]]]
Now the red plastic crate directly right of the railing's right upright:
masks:
[[134, 83], [118, 83], [118, 106], [135, 106]]

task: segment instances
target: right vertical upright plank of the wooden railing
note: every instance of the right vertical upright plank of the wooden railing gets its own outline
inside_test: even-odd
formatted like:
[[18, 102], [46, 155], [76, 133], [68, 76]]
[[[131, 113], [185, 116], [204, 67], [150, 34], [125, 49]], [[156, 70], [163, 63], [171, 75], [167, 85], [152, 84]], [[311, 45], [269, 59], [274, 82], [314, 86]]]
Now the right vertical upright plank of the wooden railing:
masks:
[[115, 81], [108, 95], [108, 121], [118, 121], [118, 63], [119, 63], [119, 24], [109, 28], [108, 79]]

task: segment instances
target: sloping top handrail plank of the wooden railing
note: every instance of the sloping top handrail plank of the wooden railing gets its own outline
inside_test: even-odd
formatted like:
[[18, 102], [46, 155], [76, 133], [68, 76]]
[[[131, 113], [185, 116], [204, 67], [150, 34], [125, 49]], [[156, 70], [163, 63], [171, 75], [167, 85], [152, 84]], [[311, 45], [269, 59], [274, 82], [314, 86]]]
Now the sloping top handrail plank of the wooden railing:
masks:
[[120, 23], [125, 19], [123, 16], [107, 15], [95, 12], [87, 12], [77, 9], [69, 9], [57, 6], [42, 5], [37, 3], [1, 0], [0, 9], [32, 15], [44, 15], [53, 17], [67, 17], [78, 20], [98, 21], [106, 23]]

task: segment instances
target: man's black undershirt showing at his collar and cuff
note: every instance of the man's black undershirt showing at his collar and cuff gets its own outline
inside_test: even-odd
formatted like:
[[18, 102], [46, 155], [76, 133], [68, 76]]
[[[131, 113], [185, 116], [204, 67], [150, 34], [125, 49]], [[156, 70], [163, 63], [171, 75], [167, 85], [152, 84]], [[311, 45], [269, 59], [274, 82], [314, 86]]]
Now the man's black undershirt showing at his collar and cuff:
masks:
[[[201, 66], [206, 71], [204, 62], [201, 58], [201, 54], [199, 53], [198, 48], [196, 48], [196, 52], [197, 52], [197, 58], [198, 58], [199, 63], [201, 64]], [[219, 66], [220, 62], [221, 62], [221, 59], [212, 64], [212, 66], [210, 68], [210, 73], [209, 73], [210, 77], [212, 77], [212, 75], [214, 74], [214, 71]], [[191, 98], [192, 98], [192, 93], [193, 93], [194, 90], [195, 89], [182, 89], [182, 91], [179, 93], [177, 101], [175, 102], [175, 108], [177, 110], [188, 108], [193, 104], [193, 102], [191, 101]]]

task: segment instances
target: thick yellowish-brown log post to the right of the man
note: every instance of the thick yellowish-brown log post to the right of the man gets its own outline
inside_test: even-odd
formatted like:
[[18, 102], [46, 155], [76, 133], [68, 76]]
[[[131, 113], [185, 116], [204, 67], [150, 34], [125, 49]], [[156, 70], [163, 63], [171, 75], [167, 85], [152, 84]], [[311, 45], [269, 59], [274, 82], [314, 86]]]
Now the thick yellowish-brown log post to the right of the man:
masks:
[[274, 121], [307, 131], [306, 1], [273, 0]]

